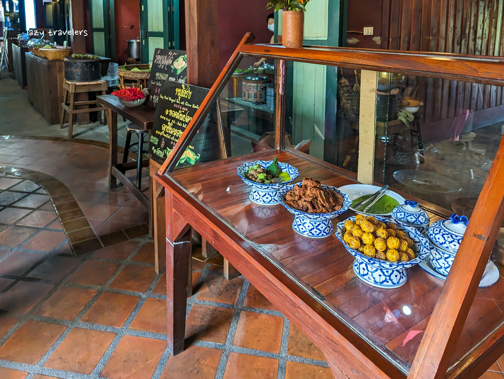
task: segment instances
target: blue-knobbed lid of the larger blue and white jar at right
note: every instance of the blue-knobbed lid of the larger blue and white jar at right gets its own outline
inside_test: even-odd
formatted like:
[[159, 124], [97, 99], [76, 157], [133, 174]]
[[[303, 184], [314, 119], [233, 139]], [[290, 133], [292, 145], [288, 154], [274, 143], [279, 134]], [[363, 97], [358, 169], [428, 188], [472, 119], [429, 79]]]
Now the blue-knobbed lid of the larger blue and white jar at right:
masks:
[[456, 253], [466, 231], [469, 219], [466, 216], [452, 214], [447, 220], [440, 220], [430, 225], [428, 236], [438, 247]]

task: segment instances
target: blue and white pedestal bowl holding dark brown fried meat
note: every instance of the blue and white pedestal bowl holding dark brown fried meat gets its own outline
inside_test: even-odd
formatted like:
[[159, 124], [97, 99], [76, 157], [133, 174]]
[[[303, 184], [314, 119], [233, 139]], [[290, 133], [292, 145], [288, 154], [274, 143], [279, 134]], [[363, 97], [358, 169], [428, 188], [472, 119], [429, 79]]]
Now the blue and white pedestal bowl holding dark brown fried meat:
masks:
[[326, 238], [333, 234], [334, 228], [331, 219], [336, 217], [338, 214], [346, 212], [352, 204], [352, 201], [348, 195], [341, 192], [336, 187], [322, 185], [324, 189], [330, 189], [334, 192], [339, 193], [343, 197], [343, 205], [341, 209], [338, 209], [331, 213], [308, 213], [292, 208], [287, 205], [284, 200], [284, 195], [294, 188], [296, 184], [289, 184], [278, 191], [278, 201], [284, 207], [287, 208], [289, 212], [294, 215], [294, 221], [292, 222], [292, 229], [301, 236], [308, 238]]

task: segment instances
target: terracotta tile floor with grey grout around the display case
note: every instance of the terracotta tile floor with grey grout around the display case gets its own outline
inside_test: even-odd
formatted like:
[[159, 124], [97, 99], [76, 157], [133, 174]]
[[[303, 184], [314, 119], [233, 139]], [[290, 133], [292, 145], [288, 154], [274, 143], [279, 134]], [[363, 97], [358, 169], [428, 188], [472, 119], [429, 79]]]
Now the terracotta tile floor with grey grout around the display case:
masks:
[[[97, 235], [145, 222], [130, 194], [107, 190], [107, 150], [14, 142], [22, 153], [13, 166], [68, 186]], [[45, 191], [0, 175], [0, 379], [332, 377], [322, 352], [259, 291], [242, 277], [223, 279], [220, 256], [193, 259], [187, 348], [170, 356], [166, 275], [154, 271], [152, 240], [135, 233], [76, 256]], [[482, 377], [504, 378], [500, 363]]]

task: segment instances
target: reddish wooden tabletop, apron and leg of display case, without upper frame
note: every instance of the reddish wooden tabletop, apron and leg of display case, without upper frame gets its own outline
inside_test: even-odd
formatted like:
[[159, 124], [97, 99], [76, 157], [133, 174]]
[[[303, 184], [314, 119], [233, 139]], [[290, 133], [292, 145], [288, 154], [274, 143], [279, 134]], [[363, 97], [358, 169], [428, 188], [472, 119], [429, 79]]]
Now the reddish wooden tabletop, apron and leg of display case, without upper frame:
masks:
[[[166, 220], [168, 345], [173, 353], [178, 353], [184, 343], [184, 275], [190, 245], [185, 239], [189, 224], [212, 241], [251, 284], [300, 328], [325, 353], [330, 365], [336, 363], [350, 377], [405, 377], [444, 282], [414, 266], [408, 269], [408, 280], [403, 286], [372, 287], [356, 277], [352, 269], [354, 257], [334, 235], [324, 239], [301, 237], [292, 229], [294, 216], [285, 207], [250, 203], [250, 189], [236, 175], [236, 167], [274, 157], [299, 169], [296, 182], [310, 175], [337, 187], [355, 183], [278, 150], [195, 165], [157, 177], [165, 187], [167, 209], [172, 209]], [[444, 218], [427, 211], [431, 221]], [[333, 224], [352, 214], [341, 214]], [[502, 275], [502, 266], [499, 270]], [[501, 333], [504, 313], [498, 304], [503, 296], [502, 278], [491, 287], [477, 290], [452, 364], [464, 361], [468, 351], [477, 355], [477, 345], [484, 336]], [[405, 305], [411, 312], [403, 311]]]

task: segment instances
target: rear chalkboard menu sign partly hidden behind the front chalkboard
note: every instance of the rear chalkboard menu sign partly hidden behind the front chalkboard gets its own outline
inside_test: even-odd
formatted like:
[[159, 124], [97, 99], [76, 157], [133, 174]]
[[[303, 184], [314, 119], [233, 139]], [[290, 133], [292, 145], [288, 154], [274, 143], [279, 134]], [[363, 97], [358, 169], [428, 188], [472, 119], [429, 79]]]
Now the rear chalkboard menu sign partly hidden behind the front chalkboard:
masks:
[[151, 74], [147, 88], [149, 98], [146, 105], [156, 108], [161, 84], [165, 81], [185, 83], [187, 82], [187, 56], [185, 50], [154, 50]]

